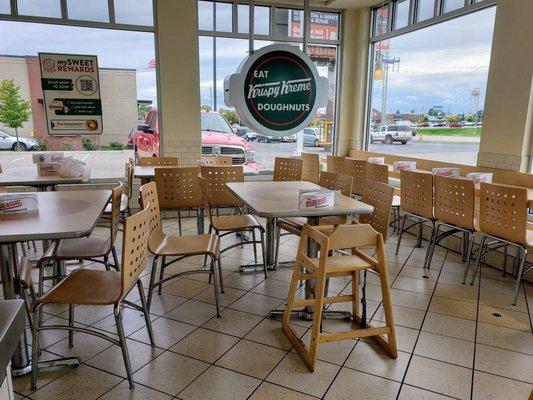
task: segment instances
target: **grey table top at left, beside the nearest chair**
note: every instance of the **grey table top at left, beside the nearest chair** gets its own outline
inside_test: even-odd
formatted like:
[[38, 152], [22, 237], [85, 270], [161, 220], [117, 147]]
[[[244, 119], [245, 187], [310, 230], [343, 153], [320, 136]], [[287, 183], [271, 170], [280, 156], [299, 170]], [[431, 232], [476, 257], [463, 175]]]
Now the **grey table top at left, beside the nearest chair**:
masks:
[[0, 215], [0, 243], [88, 236], [111, 198], [111, 190], [36, 194], [39, 211]]

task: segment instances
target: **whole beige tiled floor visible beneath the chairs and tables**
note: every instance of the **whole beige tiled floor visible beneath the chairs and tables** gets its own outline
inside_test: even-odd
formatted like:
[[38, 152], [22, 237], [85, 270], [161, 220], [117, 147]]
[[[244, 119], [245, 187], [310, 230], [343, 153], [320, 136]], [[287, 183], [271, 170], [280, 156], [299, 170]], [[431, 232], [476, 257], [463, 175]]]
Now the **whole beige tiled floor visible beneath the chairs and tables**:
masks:
[[[184, 226], [185, 234], [195, 233], [194, 220], [184, 221]], [[167, 220], [165, 230], [177, 233], [177, 224]], [[290, 259], [297, 242], [284, 240], [281, 258]], [[30, 391], [28, 376], [15, 379], [17, 398], [527, 399], [533, 384], [533, 287], [525, 285], [513, 307], [511, 279], [484, 268], [476, 285], [461, 285], [460, 257], [442, 249], [424, 279], [425, 248], [414, 248], [414, 240], [406, 238], [395, 256], [395, 240], [389, 238], [387, 251], [400, 350], [396, 360], [367, 340], [336, 342], [320, 347], [316, 370], [309, 373], [280, 323], [266, 319], [270, 309], [283, 307], [291, 270], [272, 272], [266, 281], [262, 273], [240, 274], [238, 266], [250, 263], [253, 252], [237, 247], [222, 262], [226, 293], [221, 319], [215, 316], [213, 289], [203, 275], [170, 282], [163, 295], [154, 296], [155, 348], [149, 346], [140, 313], [126, 310], [134, 391], [128, 389], [117, 347], [75, 334], [74, 348], [68, 349], [65, 333], [47, 331], [42, 333], [43, 358], [76, 354], [83, 365], [40, 372], [35, 392]], [[169, 272], [202, 261], [191, 258]], [[370, 276], [368, 311], [374, 321], [383, 321], [377, 284]], [[349, 293], [351, 284], [337, 278], [330, 288]], [[131, 298], [138, 301], [134, 294]], [[45, 311], [47, 322], [68, 317], [65, 307]], [[78, 307], [76, 321], [115, 333], [110, 308]], [[323, 328], [345, 325], [327, 321]], [[305, 322], [297, 326], [304, 340], [308, 329]]]

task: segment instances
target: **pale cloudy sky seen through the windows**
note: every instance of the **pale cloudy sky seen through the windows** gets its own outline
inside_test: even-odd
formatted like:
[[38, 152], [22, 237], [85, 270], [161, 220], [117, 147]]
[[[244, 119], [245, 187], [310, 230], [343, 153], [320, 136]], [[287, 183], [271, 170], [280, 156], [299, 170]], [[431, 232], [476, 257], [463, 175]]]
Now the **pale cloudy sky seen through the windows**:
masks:
[[[117, 1], [124, 0], [115, 0], [115, 3]], [[78, 2], [83, 4], [81, 0]], [[429, 107], [438, 105], [444, 111], [465, 113], [470, 110], [473, 88], [481, 91], [479, 109], [482, 109], [494, 16], [495, 7], [491, 7], [391, 39], [388, 56], [399, 57], [400, 64], [398, 72], [389, 73], [387, 111], [427, 112]], [[99, 18], [98, 15], [95, 18]], [[258, 41], [255, 47], [266, 44]], [[212, 39], [200, 38], [203, 104], [212, 103], [212, 46]], [[216, 48], [220, 106], [223, 105], [224, 77], [234, 73], [247, 56], [248, 41], [219, 38]], [[133, 68], [137, 71], [138, 99], [157, 103], [155, 71], [148, 69], [149, 61], [155, 58], [152, 33], [0, 21], [0, 54], [37, 55], [39, 51], [96, 54], [100, 67]], [[319, 72], [327, 73], [322, 67]], [[382, 90], [382, 81], [375, 81], [372, 105], [378, 110], [381, 110]]]

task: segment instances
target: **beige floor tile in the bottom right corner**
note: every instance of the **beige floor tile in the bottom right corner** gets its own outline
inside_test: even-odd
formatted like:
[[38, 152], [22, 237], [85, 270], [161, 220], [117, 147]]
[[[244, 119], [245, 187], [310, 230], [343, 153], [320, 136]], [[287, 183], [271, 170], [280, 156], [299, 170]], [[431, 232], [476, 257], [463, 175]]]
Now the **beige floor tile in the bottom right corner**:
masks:
[[474, 371], [473, 400], [523, 400], [527, 399], [533, 386], [500, 376]]

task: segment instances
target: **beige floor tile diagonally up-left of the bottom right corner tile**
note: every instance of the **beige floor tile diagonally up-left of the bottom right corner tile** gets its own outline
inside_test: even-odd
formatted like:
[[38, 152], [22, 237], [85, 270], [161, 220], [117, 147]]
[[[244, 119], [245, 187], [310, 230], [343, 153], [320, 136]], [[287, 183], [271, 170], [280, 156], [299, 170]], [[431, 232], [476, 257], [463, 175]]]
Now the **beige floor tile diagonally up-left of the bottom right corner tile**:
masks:
[[429, 332], [421, 332], [415, 354], [472, 368], [474, 343]]

